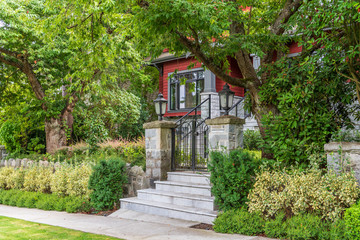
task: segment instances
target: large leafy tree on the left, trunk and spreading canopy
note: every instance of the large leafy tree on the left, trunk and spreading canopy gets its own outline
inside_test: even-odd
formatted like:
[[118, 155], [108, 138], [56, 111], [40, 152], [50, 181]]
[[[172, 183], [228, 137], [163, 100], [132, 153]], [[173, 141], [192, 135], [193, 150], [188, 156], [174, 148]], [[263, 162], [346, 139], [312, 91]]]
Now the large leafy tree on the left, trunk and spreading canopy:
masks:
[[[134, 71], [139, 68], [138, 56], [131, 44], [111, 30], [117, 24], [96, 27], [95, 14], [80, 20], [74, 15], [60, 19], [67, 10], [62, 3], [46, 8], [44, 0], [0, 0], [1, 82], [12, 84], [25, 77], [45, 118], [50, 153], [67, 145], [74, 107], [86, 92], [99, 87], [99, 82], [127, 78], [129, 72], [142, 76]], [[65, 29], [55, 29], [58, 19]], [[83, 38], [72, 35], [79, 24], [87, 31]], [[109, 74], [115, 61], [120, 63], [116, 76]], [[17, 78], [8, 77], [13, 75]]]

